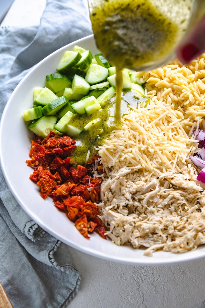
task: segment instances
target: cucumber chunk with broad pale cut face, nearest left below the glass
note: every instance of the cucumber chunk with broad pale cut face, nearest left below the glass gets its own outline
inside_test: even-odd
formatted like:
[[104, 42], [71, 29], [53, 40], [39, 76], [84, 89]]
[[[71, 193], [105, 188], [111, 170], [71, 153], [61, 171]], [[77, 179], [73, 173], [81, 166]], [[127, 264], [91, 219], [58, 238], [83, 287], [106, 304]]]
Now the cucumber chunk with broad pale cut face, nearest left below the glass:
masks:
[[99, 83], [107, 79], [109, 73], [106, 67], [99, 64], [91, 64], [85, 75], [85, 80], [89, 84]]

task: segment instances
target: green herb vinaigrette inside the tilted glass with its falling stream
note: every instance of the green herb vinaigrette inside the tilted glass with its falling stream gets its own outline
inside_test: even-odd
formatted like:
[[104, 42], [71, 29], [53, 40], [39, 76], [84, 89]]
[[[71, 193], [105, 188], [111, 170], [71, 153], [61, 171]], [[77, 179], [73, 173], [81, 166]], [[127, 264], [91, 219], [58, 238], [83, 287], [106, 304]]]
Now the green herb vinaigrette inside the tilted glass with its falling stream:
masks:
[[93, 4], [90, 19], [97, 47], [116, 66], [116, 125], [120, 124], [123, 68], [140, 68], [145, 63], [170, 55], [178, 26], [148, 0], [102, 0]]

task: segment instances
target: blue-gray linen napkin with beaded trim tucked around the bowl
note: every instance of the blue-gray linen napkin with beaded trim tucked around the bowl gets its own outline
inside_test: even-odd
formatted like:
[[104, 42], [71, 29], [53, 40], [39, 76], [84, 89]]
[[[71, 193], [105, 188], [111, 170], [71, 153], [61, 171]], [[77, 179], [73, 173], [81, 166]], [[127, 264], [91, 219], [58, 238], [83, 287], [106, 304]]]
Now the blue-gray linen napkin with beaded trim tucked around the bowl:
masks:
[[[0, 115], [31, 67], [89, 34], [92, 27], [83, 0], [47, 0], [39, 26], [0, 28]], [[81, 280], [69, 247], [22, 210], [1, 170], [0, 234], [0, 281], [14, 308], [65, 307]]]

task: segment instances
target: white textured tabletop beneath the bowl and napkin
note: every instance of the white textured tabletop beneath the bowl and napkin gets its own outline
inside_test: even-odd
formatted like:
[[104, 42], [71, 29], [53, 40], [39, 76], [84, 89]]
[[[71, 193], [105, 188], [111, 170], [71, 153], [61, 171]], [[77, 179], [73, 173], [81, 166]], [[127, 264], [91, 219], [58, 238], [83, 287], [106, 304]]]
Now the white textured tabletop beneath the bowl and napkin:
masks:
[[[37, 25], [44, 7], [45, 0], [15, 0], [2, 26]], [[83, 279], [68, 308], [205, 308], [205, 259], [133, 266], [70, 251]]]

